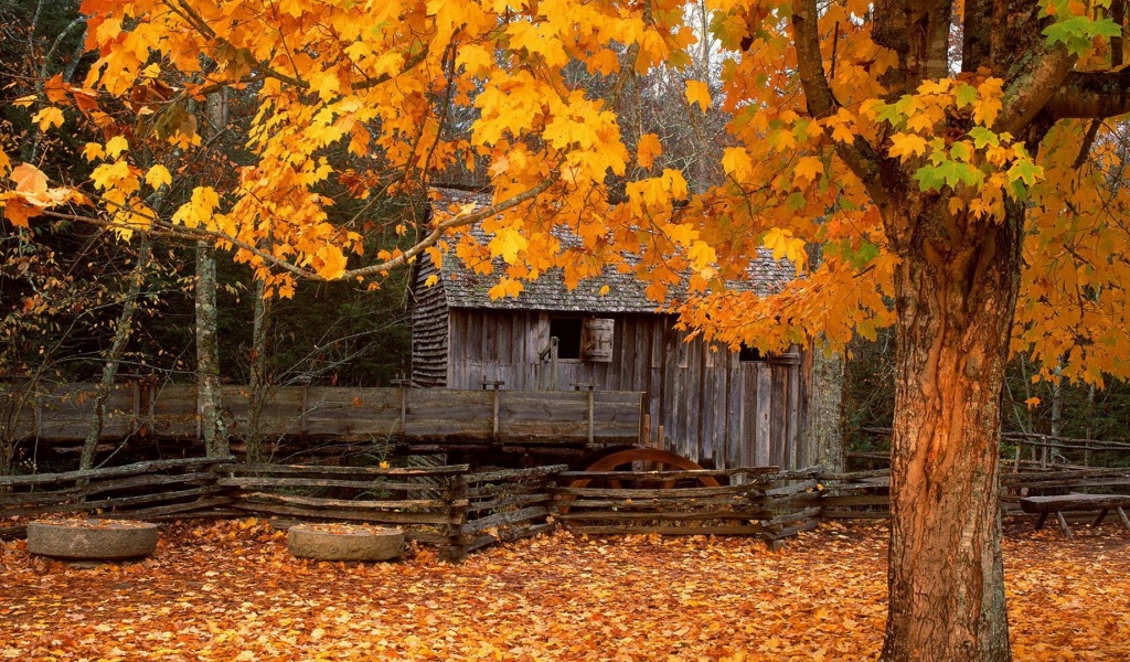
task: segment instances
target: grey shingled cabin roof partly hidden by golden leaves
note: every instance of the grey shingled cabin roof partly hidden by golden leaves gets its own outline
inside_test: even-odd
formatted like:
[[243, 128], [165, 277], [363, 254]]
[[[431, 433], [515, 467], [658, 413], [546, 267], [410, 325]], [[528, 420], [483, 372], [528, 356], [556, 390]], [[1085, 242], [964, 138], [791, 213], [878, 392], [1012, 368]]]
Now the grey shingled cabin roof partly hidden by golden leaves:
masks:
[[[441, 195], [433, 202], [437, 214], [443, 215], [452, 206], [463, 207], [468, 203], [489, 204], [487, 193], [470, 193], [454, 189], [434, 189]], [[475, 238], [485, 244], [490, 235], [480, 226], [463, 228], [459, 232], [470, 232]], [[605, 267], [603, 275], [582, 280], [574, 289], [565, 286], [560, 269], [551, 269], [538, 279], [523, 281], [524, 289], [518, 297], [492, 299], [487, 294], [504, 272], [505, 264], [501, 259], [495, 261], [494, 273], [476, 273], [454, 255], [443, 261], [440, 281], [447, 297], [447, 305], [457, 308], [492, 308], [522, 311], [558, 311], [584, 313], [655, 313], [669, 307], [673, 302], [686, 296], [686, 281], [672, 286], [668, 290], [667, 302], [654, 302], [646, 295], [647, 285], [632, 273], [620, 273], [615, 267]], [[786, 282], [796, 277], [796, 269], [786, 260], [773, 260], [773, 253], [766, 249], [758, 250], [758, 256], [749, 268], [749, 280], [731, 282], [730, 287], [754, 290], [760, 295], [780, 291]], [[608, 286], [606, 294], [600, 290]]]

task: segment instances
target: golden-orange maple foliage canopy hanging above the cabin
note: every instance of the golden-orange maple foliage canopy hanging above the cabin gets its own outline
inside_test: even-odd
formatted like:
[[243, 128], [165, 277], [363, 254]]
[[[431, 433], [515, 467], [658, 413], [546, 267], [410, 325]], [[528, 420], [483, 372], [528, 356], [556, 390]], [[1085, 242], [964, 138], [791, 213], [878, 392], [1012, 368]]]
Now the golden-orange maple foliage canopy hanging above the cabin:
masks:
[[[841, 346], [890, 322], [898, 261], [875, 191], [844, 160], [854, 149], [911, 168], [914, 184], [941, 197], [954, 218], [992, 224], [1010, 200], [1028, 204], [1014, 348], [1051, 363], [1066, 358], [1070, 378], [1130, 375], [1127, 193], [1109, 185], [1124, 160], [1115, 124], [1089, 131], [1084, 121], [1061, 121], [1033, 155], [1001, 125], [1011, 93], [989, 69], [942, 70], [893, 93], [884, 76], [898, 59], [877, 45], [870, 5], [860, 0], [822, 5], [816, 18], [815, 54], [834, 58], [825, 76], [835, 104], [814, 114], [797, 73], [790, 5], [707, 2], [710, 20], [694, 26], [685, 6], [85, 0], [87, 46], [98, 53], [89, 76], [70, 87], [53, 79], [50, 98], [19, 103], [41, 103], [32, 117], [41, 130], [60, 127], [69, 107], [104, 130], [106, 140], [82, 151], [94, 163], [90, 181], [51, 188], [33, 165], [12, 167], [0, 153], [0, 174], [9, 177], [0, 203], [11, 223], [27, 225], [87, 188], [97, 193], [101, 223], [210, 237], [260, 275], [322, 279], [381, 275], [454, 227], [489, 221], [489, 245], [451, 245], [484, 269], [490, 256], [504, 260], [496, 295], [520, 293], [522, 279], [547, 269], [575, 282], [602, 264], [625, 265], [625, 253], [643, 254], [637, 273], [649, 293], [663, 298], [671, 282], [687, 279], [689, 298], [672, 303], [711, 340], [774, 349], [823, 337]], [[1060, 32], [1048, 38], [1068, 44], [1077, 68], [1102, 66], [1110, 33], [1067, 20], [1086, 14], [1075, 5], [1061, 11]], [[703, 37], [718, 45], [707, 69], [720, 75], [679, 73], [679, 103], [731, 117], [719, 164], [724, 181], [709, 190], [688, 185], [677, 169], [655, 172], [667, 151], [661, 138], [634, 133], [608, 98], [586, 88], [589, 79], [570, 72], [576, 63], [618, 90], [660, 67], [679, 72]], [[253, 108], [244, 137], [250, 160], [228, 183], [186, 188], [190, 199], [155, 218], [146, 197], [184, 175], [171, 157], [154, 164], [142, 153], [209, 149], [198, 134], [201, 108], [224, 89]], [[107, 97], [122, 99], [147, 132], [128, 141], [103, 107]], [[462, 124], [452, 108], [467, 111]], [[329, 159], [333, 149], [347, 157]], [[1081, 149], [1089, 157], [1077, 159]], [[366, 256], [364, 218], [333, 223], [327, 211], [328, 182], [357, 200], [423, 197], [455, 173], [488, 182], [494, 206], [428, 223], [417, 215], [418, 227], [398, 228], [419, 239], [409, 250]], [[617, 178], [628, 181], [614, 204]], [[554, 239], [557, 226], [581, 245]], [[770, 297], [729, 291], [725, 284], [745, 278], [763, 247], [801, 278]]]

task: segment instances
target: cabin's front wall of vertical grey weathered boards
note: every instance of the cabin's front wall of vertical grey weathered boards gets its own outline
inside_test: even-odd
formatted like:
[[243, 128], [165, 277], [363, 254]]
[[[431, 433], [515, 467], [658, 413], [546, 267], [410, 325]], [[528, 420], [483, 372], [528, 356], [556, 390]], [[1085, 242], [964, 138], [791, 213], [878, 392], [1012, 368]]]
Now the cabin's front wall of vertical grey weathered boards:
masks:
[[[550, 315], [451, 310], [446, 385], [479, 389], [485, 381], [502, 381], [505, 390], [537, 390], [546, 384], [549, 366], [538, 356], [549, 341]], [[699, 339], [685, 342], [668, 315], [597, 316], [615, 320], [612, 360], [559, 360], [558, 390], [591, 383], [600, 391], [643, 392], [651, 443], [658, 443], [662, 425], [663, 446], [704, 467], [805, 465], [810, 454], [800, 444], [799, 355], [741, 362]]]

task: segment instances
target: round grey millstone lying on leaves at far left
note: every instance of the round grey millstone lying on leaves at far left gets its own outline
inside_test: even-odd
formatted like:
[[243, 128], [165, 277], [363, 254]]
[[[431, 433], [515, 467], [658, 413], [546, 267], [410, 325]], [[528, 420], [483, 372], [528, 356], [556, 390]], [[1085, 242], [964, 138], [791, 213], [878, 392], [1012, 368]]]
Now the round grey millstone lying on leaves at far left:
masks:
[[157, 525], [148, 522], [86, 520], [28, 522], [27, 550], [61, 559], [122, 560], [157, 549]]

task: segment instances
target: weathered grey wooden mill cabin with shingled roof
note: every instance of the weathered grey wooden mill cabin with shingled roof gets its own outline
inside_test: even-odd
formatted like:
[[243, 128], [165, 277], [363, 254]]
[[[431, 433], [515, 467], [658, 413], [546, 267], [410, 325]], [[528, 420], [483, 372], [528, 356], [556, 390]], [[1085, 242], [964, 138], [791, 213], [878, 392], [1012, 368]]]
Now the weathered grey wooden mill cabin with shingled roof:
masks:
[[[768, 254], [750, 273], [759, 291], [794, 276]], [[433, 275], [438, 280], [428, 287]], [[454, 256], [438, 272], [426, 256], [417, 263], [412, 386], [635, 391], [643, 394], [641, 419], [650, 421], [640, 445], [716, 469], [815, 463], [805, 441], [811, 371], [801, 350], [763, 356], [685, 341], [644, 284], [611, 269], [573, 290], [559, 272], [548, 272], [524, 284], [519, 297], [492, 300], [496, 279]]]

